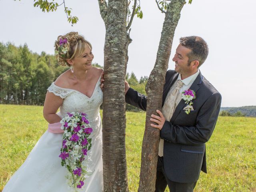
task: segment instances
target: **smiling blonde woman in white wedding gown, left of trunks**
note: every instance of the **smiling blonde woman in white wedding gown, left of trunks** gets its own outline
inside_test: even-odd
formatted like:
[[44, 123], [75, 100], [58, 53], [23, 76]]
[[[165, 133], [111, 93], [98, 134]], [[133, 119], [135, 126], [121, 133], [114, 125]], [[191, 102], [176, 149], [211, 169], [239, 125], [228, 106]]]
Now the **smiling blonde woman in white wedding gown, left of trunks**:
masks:
[[[79, 192], [103, 191], [102, 125], [100, 104], [102, 69], [92, 66], [94, 58], [91, 44], [77, 32], [58, 36], [55, 42], [58, 64], [71, 69], [61, 74], [51, 84], [44, 102], [44, 118], [48, 130], [38, 140], [25, 162], [10, 178], [3, 192], [70, 192], [66, 182], [67, 170], [61, 166], [60, 148], [62, 130], [59, 122], [67, 112], [84, 112], [90, 120], [93, 132], [92, 148], [87, 153], [93, 172]], [[60, 108], [58, 113], [57, 110]], [[57, 127], [57, 128], [56, 128]]]

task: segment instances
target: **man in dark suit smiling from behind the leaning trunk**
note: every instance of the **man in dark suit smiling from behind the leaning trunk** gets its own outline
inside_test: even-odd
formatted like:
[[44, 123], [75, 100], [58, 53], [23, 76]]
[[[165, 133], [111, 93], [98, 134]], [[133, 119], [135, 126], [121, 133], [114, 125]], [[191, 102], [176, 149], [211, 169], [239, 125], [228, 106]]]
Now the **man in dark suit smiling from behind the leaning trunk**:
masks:
[[[200, 170], [206, 173], [205, 143], [212, 135], [221, 103], [220, 93], [198, 70], [207, 55], [208, 46], [202, 38], [180, 38], [172, 59], [175, 70], [166, 73], [162, 112], [157, 110], [159, 116], [152, 114], [150, 119], [161, 138], [156, 192], [164, 192], [167, 185], [170, 192], [193, 192]], [[194, 99], [187, 105], [182, 98], [189, 96]], [[125, 97], [128, 104], [146, 110], [147, 97], [127, 82]]]

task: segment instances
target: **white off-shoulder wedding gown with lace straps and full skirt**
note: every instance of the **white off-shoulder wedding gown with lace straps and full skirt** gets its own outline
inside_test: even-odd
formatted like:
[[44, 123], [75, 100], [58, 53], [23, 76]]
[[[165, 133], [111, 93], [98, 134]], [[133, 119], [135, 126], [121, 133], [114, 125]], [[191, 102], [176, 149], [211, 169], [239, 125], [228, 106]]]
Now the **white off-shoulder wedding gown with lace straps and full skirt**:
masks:
[[[87, 153], [88, 166], [94, 171], [86, 178], [84, 188], [78, 192], [102, 192], [102, 124], [100, 118], [100, 104], [102, 90], [100, 78], [94, 88], [92, 96], [82, 94], [77, 90], [65, 89], [54, 83], [48, 88], [64, 99], [58, 115], [62, 118], [67, 112], [84, 112], [90, 121], [93, 132], [92, 148]], [[54, 134], [48, 130], [38, 140], [25, 162], [10, 178], [3, 192], [70, 192], [73, 191], [66, 182], [67, 170], [61, 166], [60, 148], [62, 147], [62, 133]]]

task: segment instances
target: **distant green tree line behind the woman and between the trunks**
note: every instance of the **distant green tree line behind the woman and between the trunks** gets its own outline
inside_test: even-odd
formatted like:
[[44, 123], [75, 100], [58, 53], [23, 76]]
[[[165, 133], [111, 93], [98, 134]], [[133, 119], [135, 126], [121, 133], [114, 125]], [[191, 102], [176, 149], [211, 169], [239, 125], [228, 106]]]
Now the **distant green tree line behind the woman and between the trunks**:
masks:
[[[101, 67], [99, 64], [93, 64]], [[0, 104], [43, 105], [47, 88], [68, 67], [59, 66], [54, 55], [33, 53], [28, 46], [0, 42]], [[130, 86], [146, 94], [147, 76], [126, 75]], [[133, 106], [128, 110], [138, 111]]]

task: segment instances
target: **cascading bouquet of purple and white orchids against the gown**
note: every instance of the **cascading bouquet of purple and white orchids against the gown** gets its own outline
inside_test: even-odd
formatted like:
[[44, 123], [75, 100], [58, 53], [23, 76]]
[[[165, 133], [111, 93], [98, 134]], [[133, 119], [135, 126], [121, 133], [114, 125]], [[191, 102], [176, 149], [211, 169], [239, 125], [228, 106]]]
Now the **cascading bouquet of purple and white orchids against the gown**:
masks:
[[68, 169], [68, 184], [70, 187], [82, 188], [86, 176], [92, 172], [87, 170], [85, 156], [92, 147], [89, 138], [92, 128], [85, 113], [68, 113], [60, 121], [61, 129], [64, 130], [62, 148], [59, 157], [61, 165]]

